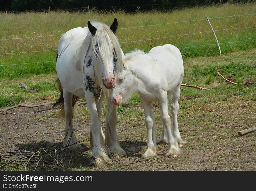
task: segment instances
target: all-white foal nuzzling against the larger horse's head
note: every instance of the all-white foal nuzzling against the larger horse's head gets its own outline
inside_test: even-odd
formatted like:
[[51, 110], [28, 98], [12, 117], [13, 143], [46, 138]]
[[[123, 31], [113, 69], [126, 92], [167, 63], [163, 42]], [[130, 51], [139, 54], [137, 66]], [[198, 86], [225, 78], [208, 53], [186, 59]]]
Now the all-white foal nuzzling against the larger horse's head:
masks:
[[[125, 68], [117, 74], [117, 85], [112, 89], [111, 99], [115, 105], [120, 105], [134, 92], [139, 93], [147, 128], [147, 151], [142, 157], [148, 159], [157, 156], [157, 142], [168, 143], [166, 155], [176, 156], [180, 153], [179, 146], [184, 144], [177, 122], [180, 85], [184, 76], [182, 55], [179, 49], [171, 44], [165, 44], [152, 48], [149, 53], [136, 50], [126, 54], [123, 62]], [[168, 114], [168, 99], [171, 97], [173, 124]], [[152, 101], [160, 102], [163, 123], [162, 136], [157, 142], [156, 125], [151, 110]]]

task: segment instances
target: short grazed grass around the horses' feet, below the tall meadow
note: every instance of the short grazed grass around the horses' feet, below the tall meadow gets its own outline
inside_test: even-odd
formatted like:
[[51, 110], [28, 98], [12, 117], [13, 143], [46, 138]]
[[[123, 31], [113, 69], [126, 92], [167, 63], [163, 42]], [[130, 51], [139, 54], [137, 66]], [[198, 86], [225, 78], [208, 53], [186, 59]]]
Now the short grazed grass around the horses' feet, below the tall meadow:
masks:
[[[123, 103], [117, 109], [118, 139], [130, 158], [119, 160], [114, 158], [113, 165], [108, 167], [88, 166], [89, 160], [83, 158], [74, 160], [72, 167], [67, 166], [67, 168], [69, 170], [170, 170], [173, 168], [178, 170], [236, 170], [238, 168], [255, 170], [255, 132], [243, 137], [239, 137], [237, 132], [255, 126], [256, 85], [247, 87], [226, 83], [215, 70], [217, 67], [226, 78], [231, 75], [235, 82], [256, 81], [255, 60], [256, 49], [228, 53], [225, 56], [184, 59], [183, 83], [211, 90], [182, 87], [186, 90], [181, 91], [179, 98], [178, 124], [181, 136], [187, 144], [182, 147], [182, 153], [178, 157], [155, 159], [144, 164], [135, 163], [140, 160], [140, 155], [146, 150], [147, 133], [144, 111], [138, 94], [134, 94], [127, 103]], [[30, 103], [52, 101], [59, 96], [58, 91], [53, 87], [54, 79], [54, 73], [31, 75], [25, 80], [24, 78], [11, 81], [0, 79], [1, 87], [5, 87], [1, 88], [1, 92], [3, 97], [20, 94], [22, 99], [27, 102], [29, 100]], [[38, 84], [40, 92], [29, 93], [17, 88], [21, 80], [29, 86], [37, 87]], [[48, 97], [42, 100], [42, 95], [48, 95]], [[0, 101], [4, 105], [4, 101]], [[102, 105], [101, 122], [105, 124], [106, 102], [104, 101]], [[152, 109], [157, 126], [157, 138], [159, 138], [162, 131], [159, 104], [153, 103]], [[55, 119], [56, 111], [34, 117], [42, 124], [48, 123], [52, 118], [61, 120]], [[74, 114], [73, 125], [77, 130], [83, 130], [84, 127], [90, 126], [90, 122], [88, 108], [84, 105], [77, 114]], [[62, 125], [58, 128], [62, 128]], [[3, 128], [1, 131], [7, 130]], [[80, 135], [77, 132], [78, 140], [88, 137], [89, 132]], [[40, 137], [41, 139], [44, 138]], [[89, 140], [84, 141], [83, 146], [86, 148], [84, 154], [90, 155], [92, 149], [90, 149]], [[167, 145], [157, 146], [159, 156], [166, 150]]]

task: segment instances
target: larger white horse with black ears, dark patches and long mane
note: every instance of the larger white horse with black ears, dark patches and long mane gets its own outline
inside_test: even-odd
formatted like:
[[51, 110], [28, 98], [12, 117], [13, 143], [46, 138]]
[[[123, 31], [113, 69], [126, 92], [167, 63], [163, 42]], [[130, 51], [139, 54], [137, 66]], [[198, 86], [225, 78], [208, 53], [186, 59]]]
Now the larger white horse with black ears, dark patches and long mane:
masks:
[[[109, 27], [103, 23], [88, 21], [88, 27], [73, 28], [60, 39], [56, 57], [56, 71], [60, 98], [55, 105], [62, 107], [66, 127], [63, 145], [69, 149], [82, 150], [74, 135], [73, 107], [79, 97], [86, 98], [91, 117], [91, 163], [95, 166], [109, 165], [107, 153], [125, 155], [116, 134], [116, 106], [111, 103], [111, 88], [116, 85], [116, 72], [123, 69], [124, 56], [114, 35], [118, 22], [114, 19]], [[101, 128], [101, 103], [106, 97], [109, 113], [105, 136]], [[106, 138], [106, 139], [105, 139]]]

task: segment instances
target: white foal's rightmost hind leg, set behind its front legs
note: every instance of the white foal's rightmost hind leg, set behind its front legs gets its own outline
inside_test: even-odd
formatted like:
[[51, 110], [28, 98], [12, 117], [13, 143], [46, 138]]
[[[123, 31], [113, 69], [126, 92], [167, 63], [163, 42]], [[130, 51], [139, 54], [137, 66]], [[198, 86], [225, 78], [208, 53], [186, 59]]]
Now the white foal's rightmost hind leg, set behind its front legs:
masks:
[[177, 114], [179, 110], [179, 103], [178, 103], [179, 96], [180, 96], [180, 86], [173, 91], [173, 99], [171, 101], [171, 112], [173, 117], [173, 134], [176, 137], [177, 142], [179, 143], [179, 146], [182, 147], [185, 142], [182, 140], [180, 136], [179, 128], [178, 128], [178, 120], [177, 120]]

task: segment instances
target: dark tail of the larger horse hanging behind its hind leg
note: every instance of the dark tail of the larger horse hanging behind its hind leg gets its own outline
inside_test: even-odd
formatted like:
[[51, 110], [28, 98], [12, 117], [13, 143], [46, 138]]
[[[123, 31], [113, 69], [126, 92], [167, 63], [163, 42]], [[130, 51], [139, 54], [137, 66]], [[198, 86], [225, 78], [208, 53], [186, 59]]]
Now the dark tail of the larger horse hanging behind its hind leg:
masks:
[[[58, 55], [58, 52], [57, 52], [57, 55], [56, 55], [56, 63], [57, 63], [58, 56], [59, 56], [59, 55]], [[59, 116], [60, 116], [60, 117], [65, 117], [63, 89], [62, 89], [61, 81], [60, 81], [59, 78], [58, 78], [58, 75], [57, 75], [57, 80], [56, 80], [55, 83], [54, 83], [55, 89], [56, 89], [56, 86], [55, 86], [56, 83], [57, 83], [58, 89], [59, 89], [60, 92], [61, 92], [61, 95], [60, 95], [59, 99], [56, 101], [56, 103], [54, 103], [54, 105], [53, 105], [52, 107], [60, 106], [61, 111], [60, 111]], [[74, 94], [72, 95], [72, 106], [73, 106], [73, 108], [74, 108], [74, 105], [77, 103], [77, 100], [78, 100], [78, 99], [79, 99], [79, 97], [75, 96]]]

